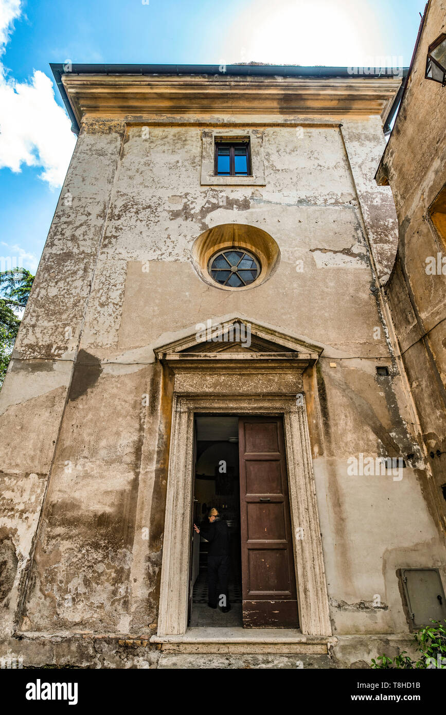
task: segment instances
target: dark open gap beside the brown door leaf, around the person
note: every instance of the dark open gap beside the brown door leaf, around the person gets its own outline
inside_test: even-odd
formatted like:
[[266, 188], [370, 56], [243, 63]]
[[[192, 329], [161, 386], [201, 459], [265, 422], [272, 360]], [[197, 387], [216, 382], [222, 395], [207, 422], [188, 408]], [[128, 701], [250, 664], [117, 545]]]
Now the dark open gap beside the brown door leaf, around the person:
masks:
[[195, 420], [194, 523], [206, 526], [211, 508], [219, 511], [229, 533], [228, 596], [231, 610], [209, 608], [209, 542], [204, 530], [192, 543], [189, 626], [242, 626], [242, 561], [240, 541], [239, 419], [198, 415]]

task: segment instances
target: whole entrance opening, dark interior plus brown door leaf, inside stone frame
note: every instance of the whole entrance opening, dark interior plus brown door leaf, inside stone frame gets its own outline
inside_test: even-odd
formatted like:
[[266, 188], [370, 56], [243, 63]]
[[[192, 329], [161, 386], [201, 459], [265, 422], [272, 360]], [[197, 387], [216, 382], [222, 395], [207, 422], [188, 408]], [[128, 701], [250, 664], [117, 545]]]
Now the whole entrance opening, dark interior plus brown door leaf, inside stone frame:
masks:
[[[200, 532], [191, 537], [189, 626], [296, 628], [282, 416], [196, 415], [194, 435], [192, 516]], [[211, 509], [224, 525], [209, 525]], [[223, 541], [217, 543], [217, 534]], [[217, 602], [217, 594], [219, 607], [208, 603]]]

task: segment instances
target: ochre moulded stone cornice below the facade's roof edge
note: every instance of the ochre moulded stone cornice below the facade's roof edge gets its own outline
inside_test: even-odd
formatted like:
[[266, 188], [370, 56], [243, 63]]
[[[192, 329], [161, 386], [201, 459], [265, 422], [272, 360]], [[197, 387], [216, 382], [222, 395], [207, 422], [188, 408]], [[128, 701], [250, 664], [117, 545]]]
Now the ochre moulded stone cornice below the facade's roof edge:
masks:
[[79, 124], [87, 117], [144, 121], [154, 115], [299, 115], [341, 119], [379, 114], [385, 121], [401, 79], [64, 74]]

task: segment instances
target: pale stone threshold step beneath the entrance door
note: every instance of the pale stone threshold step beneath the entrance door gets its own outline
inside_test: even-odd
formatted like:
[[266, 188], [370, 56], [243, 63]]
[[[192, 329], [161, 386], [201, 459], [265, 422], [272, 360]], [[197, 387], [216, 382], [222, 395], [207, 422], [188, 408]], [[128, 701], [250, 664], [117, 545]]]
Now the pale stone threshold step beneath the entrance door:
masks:
[[162, 651], [179, 653], [328, 653], [333, 638], [304, 635], [298, 628], [187, 628], [186, 633], [152, 636]]

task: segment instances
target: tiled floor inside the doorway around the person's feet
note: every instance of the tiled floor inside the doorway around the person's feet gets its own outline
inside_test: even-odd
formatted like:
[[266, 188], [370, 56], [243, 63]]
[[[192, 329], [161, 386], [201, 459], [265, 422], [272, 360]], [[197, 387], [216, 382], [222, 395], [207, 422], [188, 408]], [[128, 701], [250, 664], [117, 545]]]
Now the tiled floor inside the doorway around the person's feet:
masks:
[[221, 608], [207, 605], [207, 569], [200, 571], [192, 592], [192, 612], [189, 626], [242, 626], [242, 589], [234, 579], [229, 581], [229, 603], [231, 610], [223, 613]]

